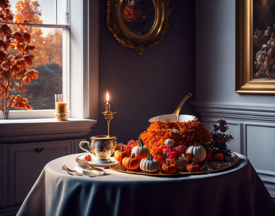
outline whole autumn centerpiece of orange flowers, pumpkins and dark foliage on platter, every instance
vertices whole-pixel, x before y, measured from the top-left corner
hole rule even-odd
[[[165,116],[167,122],[153,120],[157,118],[149,120],[151,124],[146,131],[140,134],[138,141],[131,140],[123,146],[125,156],[123,156],[122,163],[118,164],[116,168],[113,167],[115,170],[154,173],[154,175],[178,175],[185,172],[218,170],[232,166],[238,161],[238,156],[231,156],[232,152],[227,149],[225,144],[233,137],[217,133],[219,129],[221,132],[228,129],[224,120],[218,121],[219,126],[214,124],[215,129],[210,133],[197,121],[195,116],[181,115],[182,122],[169,122],[171,118],[168,119],[167,115]],[[126,155],[132,156],[126,157]],[[121,161],[121,159],[117,160]],[[141,160],[139,168],[137,164],[133,167],[127,166],[126,159]],[[227,164],[224,163],[225,161]],[[133,163],[131,162],[131,164]],[[156,166],[154,167],[154,165]]]

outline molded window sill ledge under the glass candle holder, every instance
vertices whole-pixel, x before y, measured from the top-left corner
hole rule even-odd
[[[0,142],[3,144],[54,141],[83,138],[92,131],[96,120],[54,118],[0,120]]]

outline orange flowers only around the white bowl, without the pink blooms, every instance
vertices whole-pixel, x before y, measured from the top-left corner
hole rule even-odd
[[[178,133],[173,133],[172,129],[179,130]],[[144,146],[150,149],[150,153],[153,157],[164,163],[166,158],[163,156],[163,148],[165,146],[166,139],[172,139],[175,141],[175,145],[193,145],[194,142],[205,144],[211,141],[211,133],[204,128],[204,126],[198,121],[189,122],[160,122],[152,121],[149,128],[141,133],[141,140]]]

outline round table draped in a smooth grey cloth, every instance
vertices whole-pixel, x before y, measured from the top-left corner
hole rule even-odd
[[[275,210],[258,174],[240,154],[238,163],[230,168],[183,176],[137,175],[101,168],[107,175],[88,177],[61,170],[63,164],[83,169],[75,161],[79,155],[49,162],[17,215],[252,216]]]

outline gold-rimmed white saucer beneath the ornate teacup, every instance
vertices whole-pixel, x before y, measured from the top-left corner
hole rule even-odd
[[[85,166],[92,166],[92,167],[108,167],[108,166],[113,166],[115,164],[118,164],[119,162],[114,159],[114,157],[110,157],[109,161],[106,160],[100,160],[96,156],[91,155],[91,161],[85,160],[85,156],[88,155],[88,153],[80,155],[76,158],[76,163],[85,165]]]

